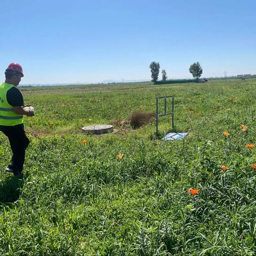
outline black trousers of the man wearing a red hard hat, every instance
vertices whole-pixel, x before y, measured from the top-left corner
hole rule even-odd
[[[25,151],[29,145],[29,139],[25,134],[23,124],[14,126],[0,125],[2,131],[9,139],[12,149],[12,165],[18,167],[18,172],[22,172],[23,164],[25,162]]]

